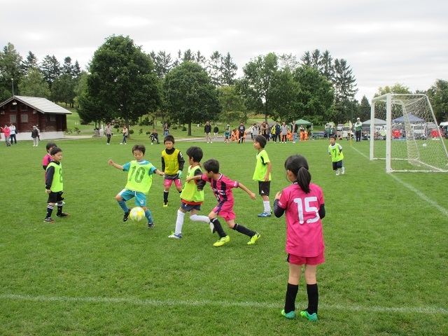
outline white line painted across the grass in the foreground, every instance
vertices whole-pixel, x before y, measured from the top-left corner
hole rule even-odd
[[[93,303],[124,303],[135,304],[139,306],[220,306],[220,307],[258,307],[258,308],[281,308],[281,303],[267,302],[225,302],[211,300],[141,300],[132,297],[67,297],[67,296],[45,296],[45,295],[17,295],[0,294],[1,300],[15,301],[36,301],[36,302],[93,302]],[[377,312],[385,311],[391,313],[404,314],[441,314],[448,315],[448,309],[437,307],[364,307],[364,306],[344,306],[342,304],[319,304],[319,307],[329,310],[349,310],[349,311],[367,311]]]

